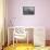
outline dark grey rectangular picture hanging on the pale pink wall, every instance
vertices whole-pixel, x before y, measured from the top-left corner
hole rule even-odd
[[[23,7],[23,15],[35,15],[35,7]]]

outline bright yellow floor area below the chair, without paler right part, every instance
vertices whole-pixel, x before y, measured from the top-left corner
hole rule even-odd
[[[26,43],[17,43],[17,45],[11,45],[7,48],[4,48],[4,50],[30,50],[34,49],[34,46],[32,45],[26,45]]]

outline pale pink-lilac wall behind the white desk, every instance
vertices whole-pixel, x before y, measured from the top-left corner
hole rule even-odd
[[[23,7],[35,7],[35,15],[23,15]],[[50,40],[50,0],[8,0],[9,26],[43,26]]]

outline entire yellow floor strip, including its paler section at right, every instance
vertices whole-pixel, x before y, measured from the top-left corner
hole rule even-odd
[[[3,50],[50,50],[50,47],[34,47],[32,45],[26,43],[18,43],[18,45],[11,45]]]

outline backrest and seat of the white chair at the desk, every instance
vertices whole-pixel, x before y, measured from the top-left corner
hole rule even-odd
[[[13,37],[16,39],[24,39],[26,37],[26,32],[23,27],[16,27],[13,34]]]

